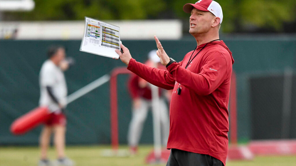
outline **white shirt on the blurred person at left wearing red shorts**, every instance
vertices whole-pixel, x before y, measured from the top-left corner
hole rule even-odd
[[[67,84],[63,71],[57,67],[50,59],[46,60],[40,70],[39,75],[40,99],[39,105],[46,106],[51,111],[59,110],[59,105],[49,96],[46,86],[52,88],[53,95],[58,102],[66,107],[67,105]]]

